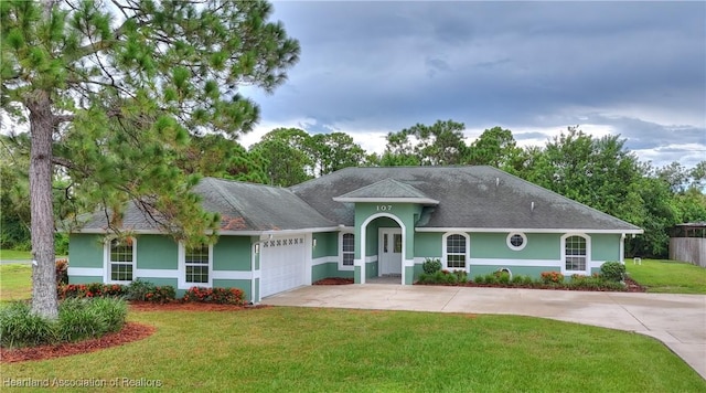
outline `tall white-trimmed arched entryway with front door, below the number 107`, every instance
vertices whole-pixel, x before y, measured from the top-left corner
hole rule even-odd
[[[405,234],[406,226],[403,221],[391,213],[373,214],[361,224],[360,284],[379,276],[398,276],[397,284],[405,283]],[[374,249],[376,252],[373,252]],[[377,264],[373,265],[373,262]]]

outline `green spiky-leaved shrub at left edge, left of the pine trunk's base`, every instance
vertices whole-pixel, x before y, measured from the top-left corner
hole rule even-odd
[[[6,348],[40,346],[56,341],[54,325],[32,312],[30,305],[14,301],[0,308],[0,344]]]

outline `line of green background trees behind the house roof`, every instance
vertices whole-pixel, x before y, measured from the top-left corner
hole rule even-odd
[[[345,132],[309,135],[277,128],[246,149],[221,134],[192,136],[174,162],[185,173],[289,187],[346,167],[486,164],[620,217],[645,230],[628,241],[628,253],[665,257],[668,230],[706,221],[706,161],[655,168],[641,162],[619,136],[593,138],[568,127],[542,147],[517,147],[509,129],[484,130],[467,144],[453,120],[417,124],[386,137],[381,155],[368,153]],[[2,247],[29,248],[26,135],[2,136],[0,203]],[[54,177],[60,219],[81,213],[65,201],[66,178]],[[57,235],[65,247],[65,236]]]

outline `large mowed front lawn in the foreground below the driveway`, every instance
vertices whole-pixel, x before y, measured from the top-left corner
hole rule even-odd
[[[654,339],[538,318],[277,307],[129,319],[158,330],[94,353],[3,364],[3,378],[157,380],[170,392],[706,391]]]

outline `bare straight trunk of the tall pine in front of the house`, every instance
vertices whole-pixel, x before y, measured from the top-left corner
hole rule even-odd
[[[54,115],[46,92],[26,102],[30,110],[30,211],[32,234],[32,311],[50,319],[58,316],[54,262],[52,204],[52,137]]]

